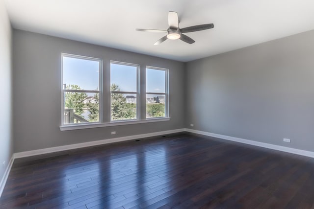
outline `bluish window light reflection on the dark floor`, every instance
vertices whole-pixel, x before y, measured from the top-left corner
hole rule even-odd
[[[164,193],[162,187],[170,182],[166,174],[160,175],[169,166],[164,146],[113,156],[103,161],[73,164],[64,169],[65,191],[70,189],[75,196],[69,199],[70,207],[81,206],[84,201],[87,208],[117,208],[130,197],[134,199],[131,203],[127,202],[131,207]]]

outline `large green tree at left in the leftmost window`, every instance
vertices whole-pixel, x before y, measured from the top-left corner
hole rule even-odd
[[[81,90],[78,85],[68,85],[66,89],[71,90]],[[65,93],[65,107],[73,108],[74,113],[78,116],[82,116],[84,99],[87,97],[86,93],[81,92],[67,92]]]

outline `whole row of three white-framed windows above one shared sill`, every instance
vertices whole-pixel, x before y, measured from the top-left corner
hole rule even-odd
[[[62,53],[60,130],[169,120],[168,70],[140,74],[137,64],[110,61],[103,69],[101,59]]]

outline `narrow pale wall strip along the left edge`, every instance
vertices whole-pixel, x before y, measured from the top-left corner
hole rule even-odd
[[[0,181],[12,156],[11,24],[0,0]],[[5,162],[4,168],[2,163]]]

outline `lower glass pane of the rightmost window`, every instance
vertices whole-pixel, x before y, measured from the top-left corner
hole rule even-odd
[[[146,118],[165,117],[165,95],[146,94]]]

